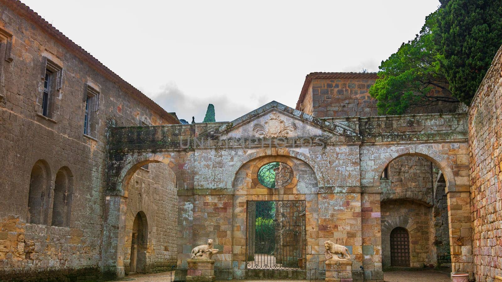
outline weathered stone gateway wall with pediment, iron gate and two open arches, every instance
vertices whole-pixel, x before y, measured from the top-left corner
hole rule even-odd
[[[124,273],[130,171],[163,162],[178,190],[178,267],[210,238],[232,277],[315,278],[332,240],[349,249],[354,278],[362,266],[381,280],[382,174],[411,155],[441,170],[452,271],[471,273],[466,127],[465,114],[319,119],[271,102],[231,122],[110,128],[103,267]]]

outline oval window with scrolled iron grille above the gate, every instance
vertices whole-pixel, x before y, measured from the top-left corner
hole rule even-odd
[[[258,181],[267,188],[282,188],[292,180],[293,169],[285,163],[268,163],[258,171]]]

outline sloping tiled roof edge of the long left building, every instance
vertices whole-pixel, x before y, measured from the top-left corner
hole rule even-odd
[[[12,9],[16,14],[25,18],[26,20],[37,25],[42,31],[53,37],[59,44],[64,46],[69,52],[73,53],[80,60],[91,66],[98,73],[109,79],[110,81],[119,85],[124,91],[130,93],[140,102],[146,104],[151,110],[157,112],[162,118],[169,120],[172,123],[180,123],[178,118],[168,113],[159,104],[150,99],[147,95],[143,94],[136,87],[131,85],[126,80],[122,79],[118,74],[103,65],[98,59],[94,58],[89,52],[85,51],[82,47],[71,41],[58,29],[53,27],[45,19],[39,16],[36,12],[30,9],[19,0],[0,0],[3,4]]]

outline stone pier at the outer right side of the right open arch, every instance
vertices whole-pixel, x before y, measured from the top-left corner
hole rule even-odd
[[[452,273],[468,273],[469,279],[473,279],[470,192],[447,192],[446,195],[448,197],[451,270]]]

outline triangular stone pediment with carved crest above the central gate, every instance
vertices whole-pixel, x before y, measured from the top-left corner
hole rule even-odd
[[[221,139],[357,135],[347,126],[315,118],[276,101],[230,121],[215,131]]]

